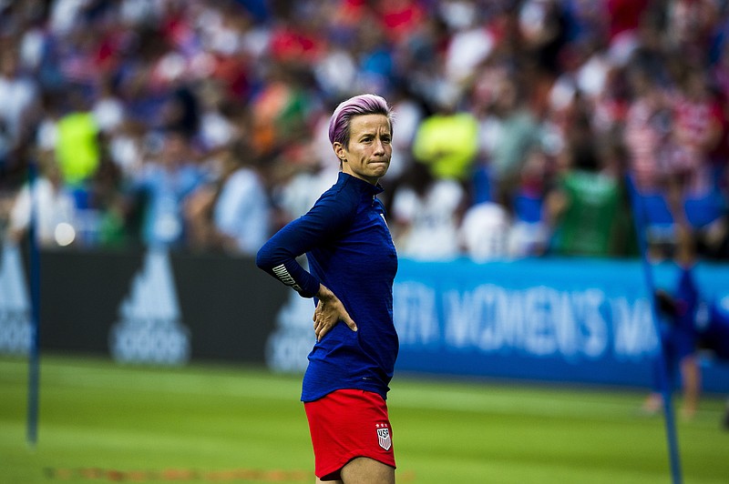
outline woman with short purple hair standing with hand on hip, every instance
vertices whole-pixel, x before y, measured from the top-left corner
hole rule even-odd
[[[302,297],[314,297],[316,342],[302,400],[317,482],[395,482],[385,399],[398,352],[397,255],[377,198],[392,134],[391,107],[381,96],[354,96],[337,106],[329,127],[342,170],[336,184],[256,258]],[[311,272],[296,260],[303,254]]]

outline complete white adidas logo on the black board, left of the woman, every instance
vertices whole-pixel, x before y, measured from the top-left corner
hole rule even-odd
[[[190,330],[180,323],[180,303],[169,255],[149,249],[109,330],[109,350],[119,363],[183,365],[190,360]]]

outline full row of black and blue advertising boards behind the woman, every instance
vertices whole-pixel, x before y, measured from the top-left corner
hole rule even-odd
[[[11,252],[0,257],[0,354],[27,354],[29,301],[20,290],[26,278],[19,253],[11,263]],[[150,256],[43,251],[41,348],[118,358],[111,336],[121,327],[128,329],[124,341],[139,346],[128,349],[140,362],[230,360],[285,372],[306,367],[311,299],[264,274],[251,258],[171,254],[159,264]],[[399,264],[398,371],[652,385],[658,339],[638,260]],[[673,287],[676,274],[670,264],[655,267],[656,284]],[[729,294],[729,265],[704,263],[696,277],[705,297]],[[161,294],[159,287],[169,290]],[[150,299],[152,290],[157,293]],[[149,304],[165,318],[141,324]],[[162,358],[157,349],[171,347],[150,345],[149,331],[160,338],[187,335],[189,352],[180,361]],[[729,363],[703,360],[703,388],[729,393]]]

